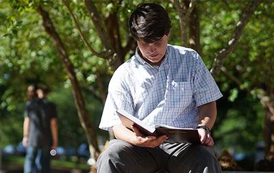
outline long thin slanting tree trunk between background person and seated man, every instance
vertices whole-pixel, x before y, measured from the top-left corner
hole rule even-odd
[[[53,42],[56,48],[58,49],[58,53],[61,57],[62,64],[64,65],[64,68],[66,68],[66,74],[69,76],[69,79],[71,80],[71,87],[72,87],[75,105],[77,108],[77,113],[78,113],[80,122],[82,124],[82,127],[86,133],[86,137],[88,139],[90,155],[92,158],[97,160],[100,152],[98,143],[97,143],[97,137],[92,127],[92,124],[90,122],[90,118],[88,116],[88,111],[86,109],[85,101],[81,92],[82,90],[80,88],[79,82],[77,81],[77,77],[75,75],[74,66],[73,64],[71,64],[71,61],[69,60],[69,57],[66,54],[64,45],[60,37],[55,31],[55,28],[53,27],[53,24],[51,23],[49,15],[44,10],[42,10],[41,7],[39,7],[37,11],[42,16],[43,26],[45,27],[45,30],[47,31],[49,36],[51,36],[51,38],[53,39]]]

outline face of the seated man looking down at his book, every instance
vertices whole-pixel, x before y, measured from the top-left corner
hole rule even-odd
[[[141,57],[152,66],[160,66],[164,55],[166,54],[167,40],[170,36],[164,35],[159,41],[153,43],[145,43],[137,41]]]

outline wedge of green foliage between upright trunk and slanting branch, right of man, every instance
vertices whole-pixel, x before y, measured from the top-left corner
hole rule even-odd
[[[197,4],[200,12],[202,57],[208,68],[212,66],[214,53],[223,49],[236,27],[240,4],[235,2],[226,4],[223,1],[203,1]],[[241,7],[244,4],[241,3]]]

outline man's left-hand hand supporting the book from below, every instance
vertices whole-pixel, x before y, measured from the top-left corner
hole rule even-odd
[[[166,139],[166,135],[161,135],[159,137],[155,136],[145,136],[142,132],[138,130],[137,127],[132,126],[132,130],[134,131],[136,135],[136,139],[134,140],[134,145],[136,146],[142,146],[142,147],[148,147],[148,148],[155,148],[156,146],[160,146]]]

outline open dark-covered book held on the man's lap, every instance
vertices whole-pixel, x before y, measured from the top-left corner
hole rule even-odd
[[[155,126],[150,127],[123,109],[119,109],[116,112],[122,124],[128,129],[132,129],[132,125],[134,125],[145,135],[167,135],[169,139],[166,139],[166,142],[200,144],[200,137],[196,129],[182,129],[164,124],[155,124]]]

